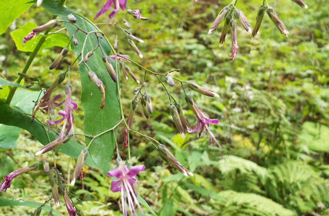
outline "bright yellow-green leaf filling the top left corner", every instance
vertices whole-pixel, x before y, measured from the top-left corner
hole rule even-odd
[[[0,34],[4,33],[8,26],[25,12],[32,4],[26,4],[29,0],[2,1],[0,5]]]

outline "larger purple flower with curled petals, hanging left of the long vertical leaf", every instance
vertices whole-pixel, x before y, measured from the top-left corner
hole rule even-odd
[[[65,86],[65,93],[66,93],[66,97],[65,97],[65,107],[64,107],[64,111],[59,111],[58,114],[62,115],[63,117],[59,120],[56,121],[49,121],[47,120],[48,123],[50,124],[59,124],[61,122],[63,122],[63,128],[62,131],[58,137],[58,140],[62,140],[63,136],[64,136],[64,131],[66,128],[66,123],[67,123],[67,129],[65,132],[65,135],[68,135],[68,132],[71,130],[72,128],[72,132],[73,132],[73,138],[74,138],[74,128],[73,128],[73,111],[72,110],[76,110],[78,108],[78,105],[76,103],[74,103],[72,101],[72,86],[70,84],[67,84]]]

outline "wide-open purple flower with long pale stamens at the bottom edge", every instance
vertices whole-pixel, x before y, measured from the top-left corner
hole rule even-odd
[[[137,179],[135,178],[135,176],[144,169],[145,169],[145,165],[139,165],[139,166],[133,166],[130,168],[130,170],[128,170],[128,167],[126,165],[123,165],[123,162],[120,161],[119,168],[115,168],[114,170],[107,172],[108,177],[115,177],[118,179],[112,181],[111,191],[112,192],[121,191],[121,204],[122,204],[123,216],[127,216],[126,197],[128,198],[128,205],[131,215],[134,215],[135,213],[135,215],[137,216],[134,207],[134,202],[135,204],[137,204],[140,211],[143,213],[143,210],[141,209],[139,202],[137,200],[137,191],[135,188]]]

